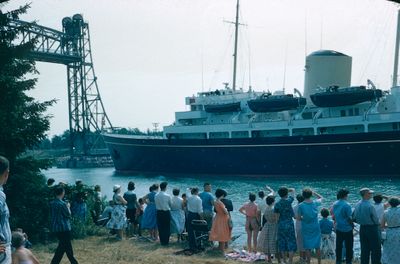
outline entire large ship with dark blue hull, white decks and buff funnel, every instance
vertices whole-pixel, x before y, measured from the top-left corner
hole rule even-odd
[[[399,37],[392,87],[352,86],[352,58],[334,50],[306,57],[304,92],[232,87],[185,98],[162,136],[104,133],[116,171],[221,176],[400,175]],[[397,34],[399,35],[399,29]]]

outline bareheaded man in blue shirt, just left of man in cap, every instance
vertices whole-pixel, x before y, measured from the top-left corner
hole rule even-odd
[[[349,191],[340,189],[337,201],[332,206],[333,218],[336,223],[336,263],[342,263],[343,241],[346,248],[346,264],[353,260],[353,221],[351,206],[347,202]]]

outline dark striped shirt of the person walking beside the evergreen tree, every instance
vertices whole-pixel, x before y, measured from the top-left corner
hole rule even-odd
[[[53,232],[65,232],[71,231],[71,212],[67,207],[67,204],[60,200],[54,199],[50,203],[51,208],[51,226],[50,229]]]

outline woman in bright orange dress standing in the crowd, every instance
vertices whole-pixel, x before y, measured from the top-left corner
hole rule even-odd
[[[217,198],[214,202],[216,215],[214,217],[211,232],[210,241],[218,241],[218,248],[221,251],[225,250],[225,244],[231,240],[231,229],[229,227],[229,214],[226,210],[224,203],[221,201],[225,197],[225,191],[217,189],[215,191],[215,197]]]

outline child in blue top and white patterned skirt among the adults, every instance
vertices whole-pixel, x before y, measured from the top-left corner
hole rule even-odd
[[[328,219],[329,210],[321,209],[322,219],[319,220],[321,228],[321,257],[322,259],[336,259],[335,236],[333,234],[333,222]]]

